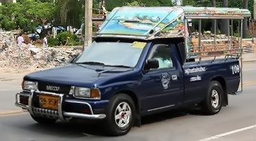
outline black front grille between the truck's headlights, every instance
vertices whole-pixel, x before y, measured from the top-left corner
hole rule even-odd
[[[48,86],[53,86],[53,87],[60,87],[58,91],[51,91],[47,89]],[[39,91],[47,91],[51,93],[58,93],[58,94],[68,94],[70,91],[70,85],[63,85],[63,84],[54,84],[54,83],[49,83],[49,82],[38,82],[38,90]]]

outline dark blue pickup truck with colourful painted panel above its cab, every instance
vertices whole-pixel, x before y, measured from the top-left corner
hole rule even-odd
[[[136,16],[131,21],[127,14]],[[100,121],[114,136],[140,126],[145,115],[188,105],[217,114],[228,94],[236,94],[241,66],[238,57],[197,61],[212,55],[188,50],[186,27],[168,27],[186,25],[185,14],[182,7],[115,8],[92,45],[70,63],[26,75],[15,105],[41,124]],[[172,32],[161,33],[161,26]]]

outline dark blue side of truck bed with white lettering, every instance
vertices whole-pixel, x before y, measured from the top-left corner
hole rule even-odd
[[[185,63],[183,65],[185,101],[193,100],[195,97],[198,100],[204,98],[211,80],[219,81],[227,93],[236,92],[239,87],[240,75],[239,72],[232,72],[234,66],[239,68],[239,61],[234,58]]]

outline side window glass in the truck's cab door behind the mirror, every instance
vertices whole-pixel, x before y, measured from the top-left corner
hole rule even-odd
[[[167,45],[154,45],[152,50],[150,50],[148,59],[157,59],[159,62],[159,68],[150,70],[159,70],[173,67],[172,54],[170,48]]]

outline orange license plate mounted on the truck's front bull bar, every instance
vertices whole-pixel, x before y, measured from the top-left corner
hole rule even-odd
[[[39,103],[41,108],[58,110],[59,98],[56,96],[39,95]]]

